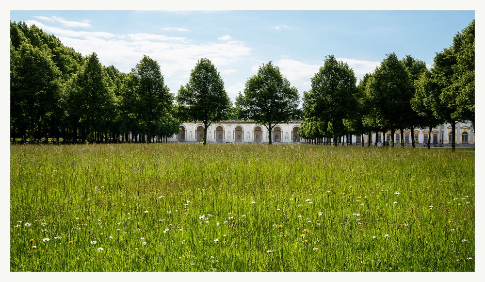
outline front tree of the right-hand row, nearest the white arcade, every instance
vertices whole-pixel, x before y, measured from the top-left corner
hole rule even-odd
[[[333,55],[325,58],[323,66],[311,79],[310,92],[315,97],[316,117],[326,125],[325,131],[330,133],[334,146],[337,146],[337,137],[347,133],[344,120],[349,119],[357,108],[356,75]]]

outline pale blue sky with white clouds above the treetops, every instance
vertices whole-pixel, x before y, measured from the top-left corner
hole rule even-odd
[[[198,59],[209,58],[233,101],[270,60],[300,96],[327,55],[347,62],[357,82],[391,52],[431,67],[435,53],[474,18],[474,11],[10,12],[12,21],[35,24],[82,55],[96,52],[103,65],[123,72],[148,55],[173,93]]]

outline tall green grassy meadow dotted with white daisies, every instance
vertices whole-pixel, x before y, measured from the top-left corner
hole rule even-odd
[[[474,151],[10,147],[11,271],[475,271]]]

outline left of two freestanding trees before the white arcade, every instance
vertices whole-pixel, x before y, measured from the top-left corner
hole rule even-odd
[[[204,124],[202,144],[207,143],[207,128],[211,122],[228,118],[231,100],[224,89],[224,82],[209,59],[197,61],[189,83],[180,86],[177,94],[178,118],[184,122],[201,121]]]

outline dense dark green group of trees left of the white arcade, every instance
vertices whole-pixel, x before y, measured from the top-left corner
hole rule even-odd
[[[14,142],[151,142],[179,131],[159,64],[125,74],[82,57],[35,25],[10,23],[10,136]]]

